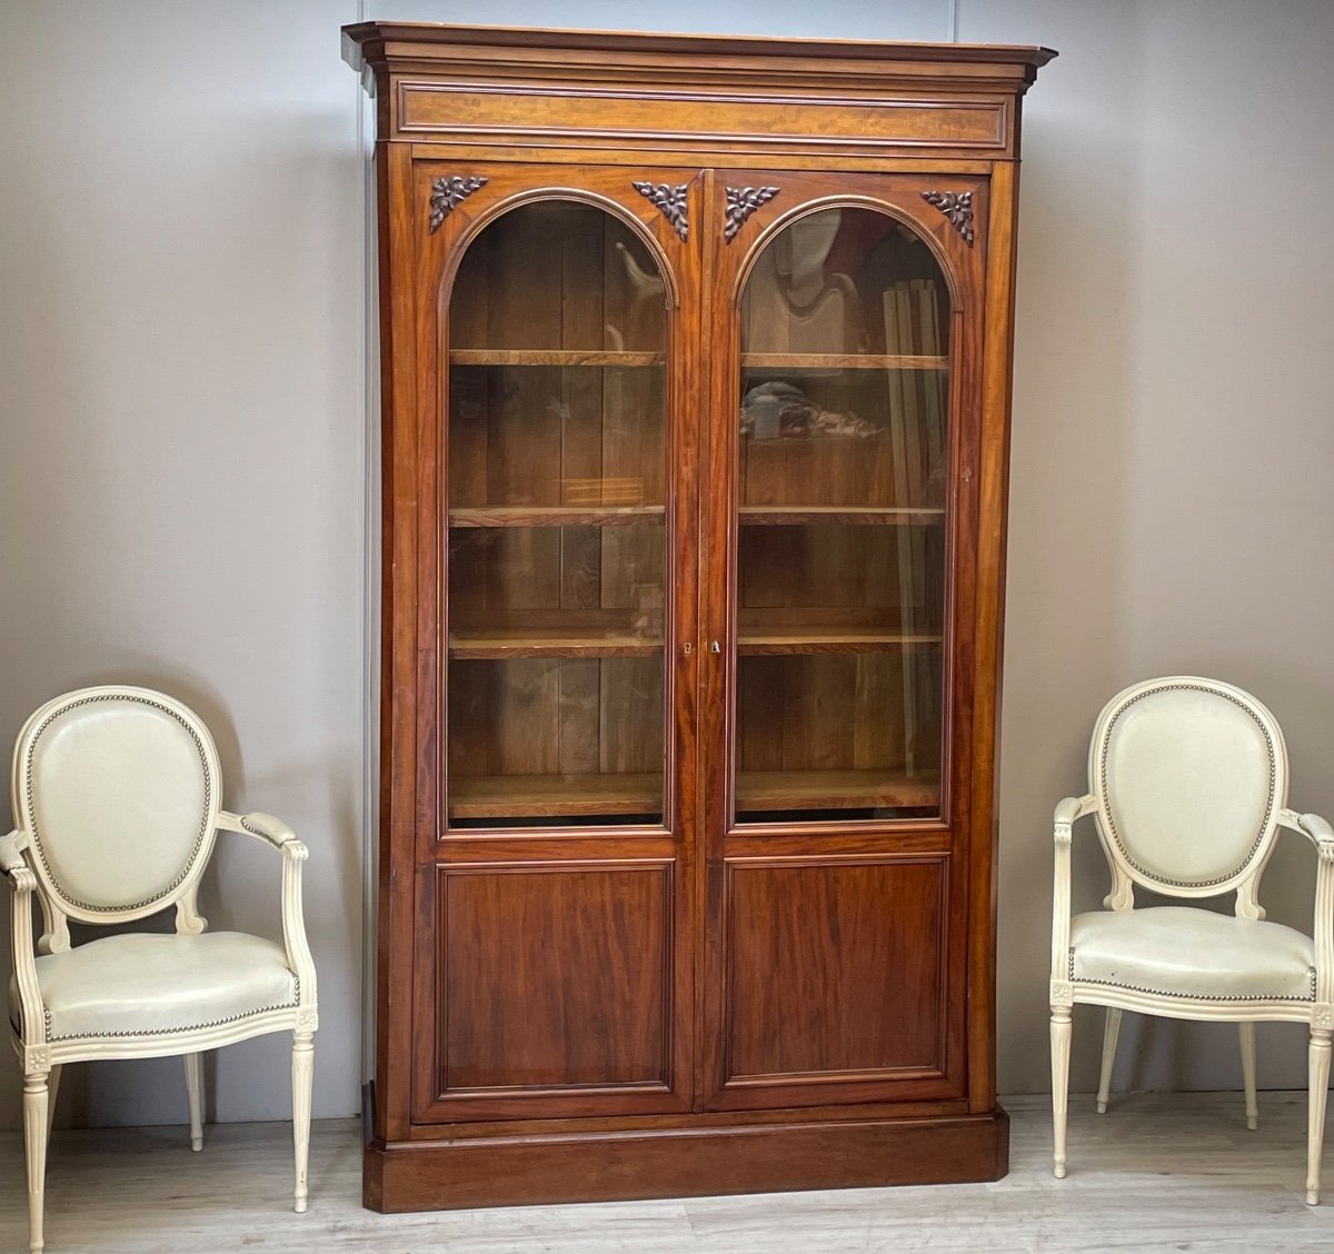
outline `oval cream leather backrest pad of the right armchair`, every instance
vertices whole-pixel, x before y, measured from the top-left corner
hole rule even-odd
[[[1225,686],[1187,679],[1105,712],[1090,782],[1137,878],[1221,883],[1261,852],[1283,786],[1279,732],[1265,714]]]

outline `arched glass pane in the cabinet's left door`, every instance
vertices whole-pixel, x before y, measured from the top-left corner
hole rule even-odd
[[[600,208],[522,205],[447,338],[450,824],[659,823],[662,275]]]

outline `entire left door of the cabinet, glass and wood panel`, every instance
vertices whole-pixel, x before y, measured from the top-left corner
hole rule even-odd
[[[422,422],[439,440],[443,735],[423,746],[439,787],[419,851],[415,1035],[431,1049],[414,1118],[680,1111],[694,1090],[690,180],[438,161],[415,177],[432,207],[416,350],[438,380]]]

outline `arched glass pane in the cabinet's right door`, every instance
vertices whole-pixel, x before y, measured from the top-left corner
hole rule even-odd
[[[938,814],[944,276],[896,219],[820,209],[740,312],[736,819]]]

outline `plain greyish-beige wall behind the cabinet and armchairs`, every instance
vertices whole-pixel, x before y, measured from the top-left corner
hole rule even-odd
[[[624,27],[610,0],[0,3],[0,735],[129,679],[217,735],[227,803],[311,844],[316,1113],[358,1106],[368,742],[363,13]],[[1050,812],[1121,686],[1198,671],[1278,715],[1334,815],[1334,7],[1322,0],[687,0],[646,29],[1045,43],[1027,101],[1000,771],[1002,1089],[1046,1086]],[[374,511],[372,511],[374,512]],[[3,802],[3,798],[0,798]],[[1091,836],[1091,832],[1086,834]],[[1090,847],[1078,895],[1102,872]],[[1309,922],[1283,847],[1271,916]],[[275,926],[223,846],[213,926]],[[7,904],[0,911],[7,910]],[[1077,1017],[1075,1086],[1093,1085]],[[1121,1082],[1233,1087],[1229,1029],[1129,1023]],[[1261,1079],[1305,1082],[1301,1031]],[[287,1110],[281,1042],[219,1118]],[[17,1117],[0,1066],[0,1123]],[[61,1121],[179,1122],[175,1062],[75,1078]]]

